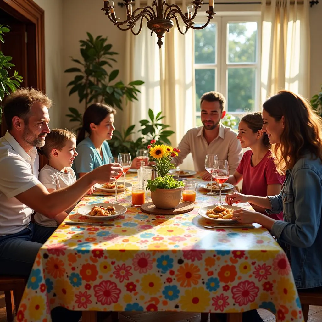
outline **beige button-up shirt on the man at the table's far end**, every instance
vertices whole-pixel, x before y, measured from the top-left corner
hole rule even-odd
[[[219,160],[228,160],[229,171],[232,175],[242,159],[242,147],[237,134],[229,127],[219,124],[218,136],[208,145],[204,138],[204,127],[190,129],[179,143],[181,150],[172,162],[180,165],[191,152],[195,171],[205,171],[204,161],[207,154],[216,154]]]

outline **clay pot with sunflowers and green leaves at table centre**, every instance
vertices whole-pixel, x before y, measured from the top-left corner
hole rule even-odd
[[[156,170],[158,177],[154,180],[147,180],[147,189],[151,191],[153,204],[160,209],[173,209],[180,200],[183,182],[177,181],[173,175],[169,175],[169,170],[175,168],[171,163],[172,159],[178,156],[179,149],[168,145],[156,145],[156,140],[151,140],[147,146],[150,153],[150,161],[153,161],[152,168]]]

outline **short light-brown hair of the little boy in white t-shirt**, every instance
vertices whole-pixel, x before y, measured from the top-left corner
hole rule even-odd
[[[53,149],[61,151],[65,146],[66,141],[72,138],[76,139],[76,135],[73,132],[62,128],[53,128],[50,133],[46,135],[45,145],[41,148],[41,152],[49,159]]]

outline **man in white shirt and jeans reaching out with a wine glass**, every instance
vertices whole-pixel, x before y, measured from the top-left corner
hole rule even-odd
[[[8,132],[0,138],[0,275],[29,276],[37,252],[53,232],[31,223],[33,211],[65,219],[63,211],[75,204],[96,182],[114,181],[118,163],[101,166],[75,184],[48,193],[38,181],[36,147],[45,144],[48,108],[52,102],[35,89],[20,89],[4,106]]]

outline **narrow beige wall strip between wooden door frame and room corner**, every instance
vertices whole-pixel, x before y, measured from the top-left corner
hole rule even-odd
[[[61,127],[62,96],[62,0],[34,0],[45,11],[46,93],[53,101],[50,127]]]

